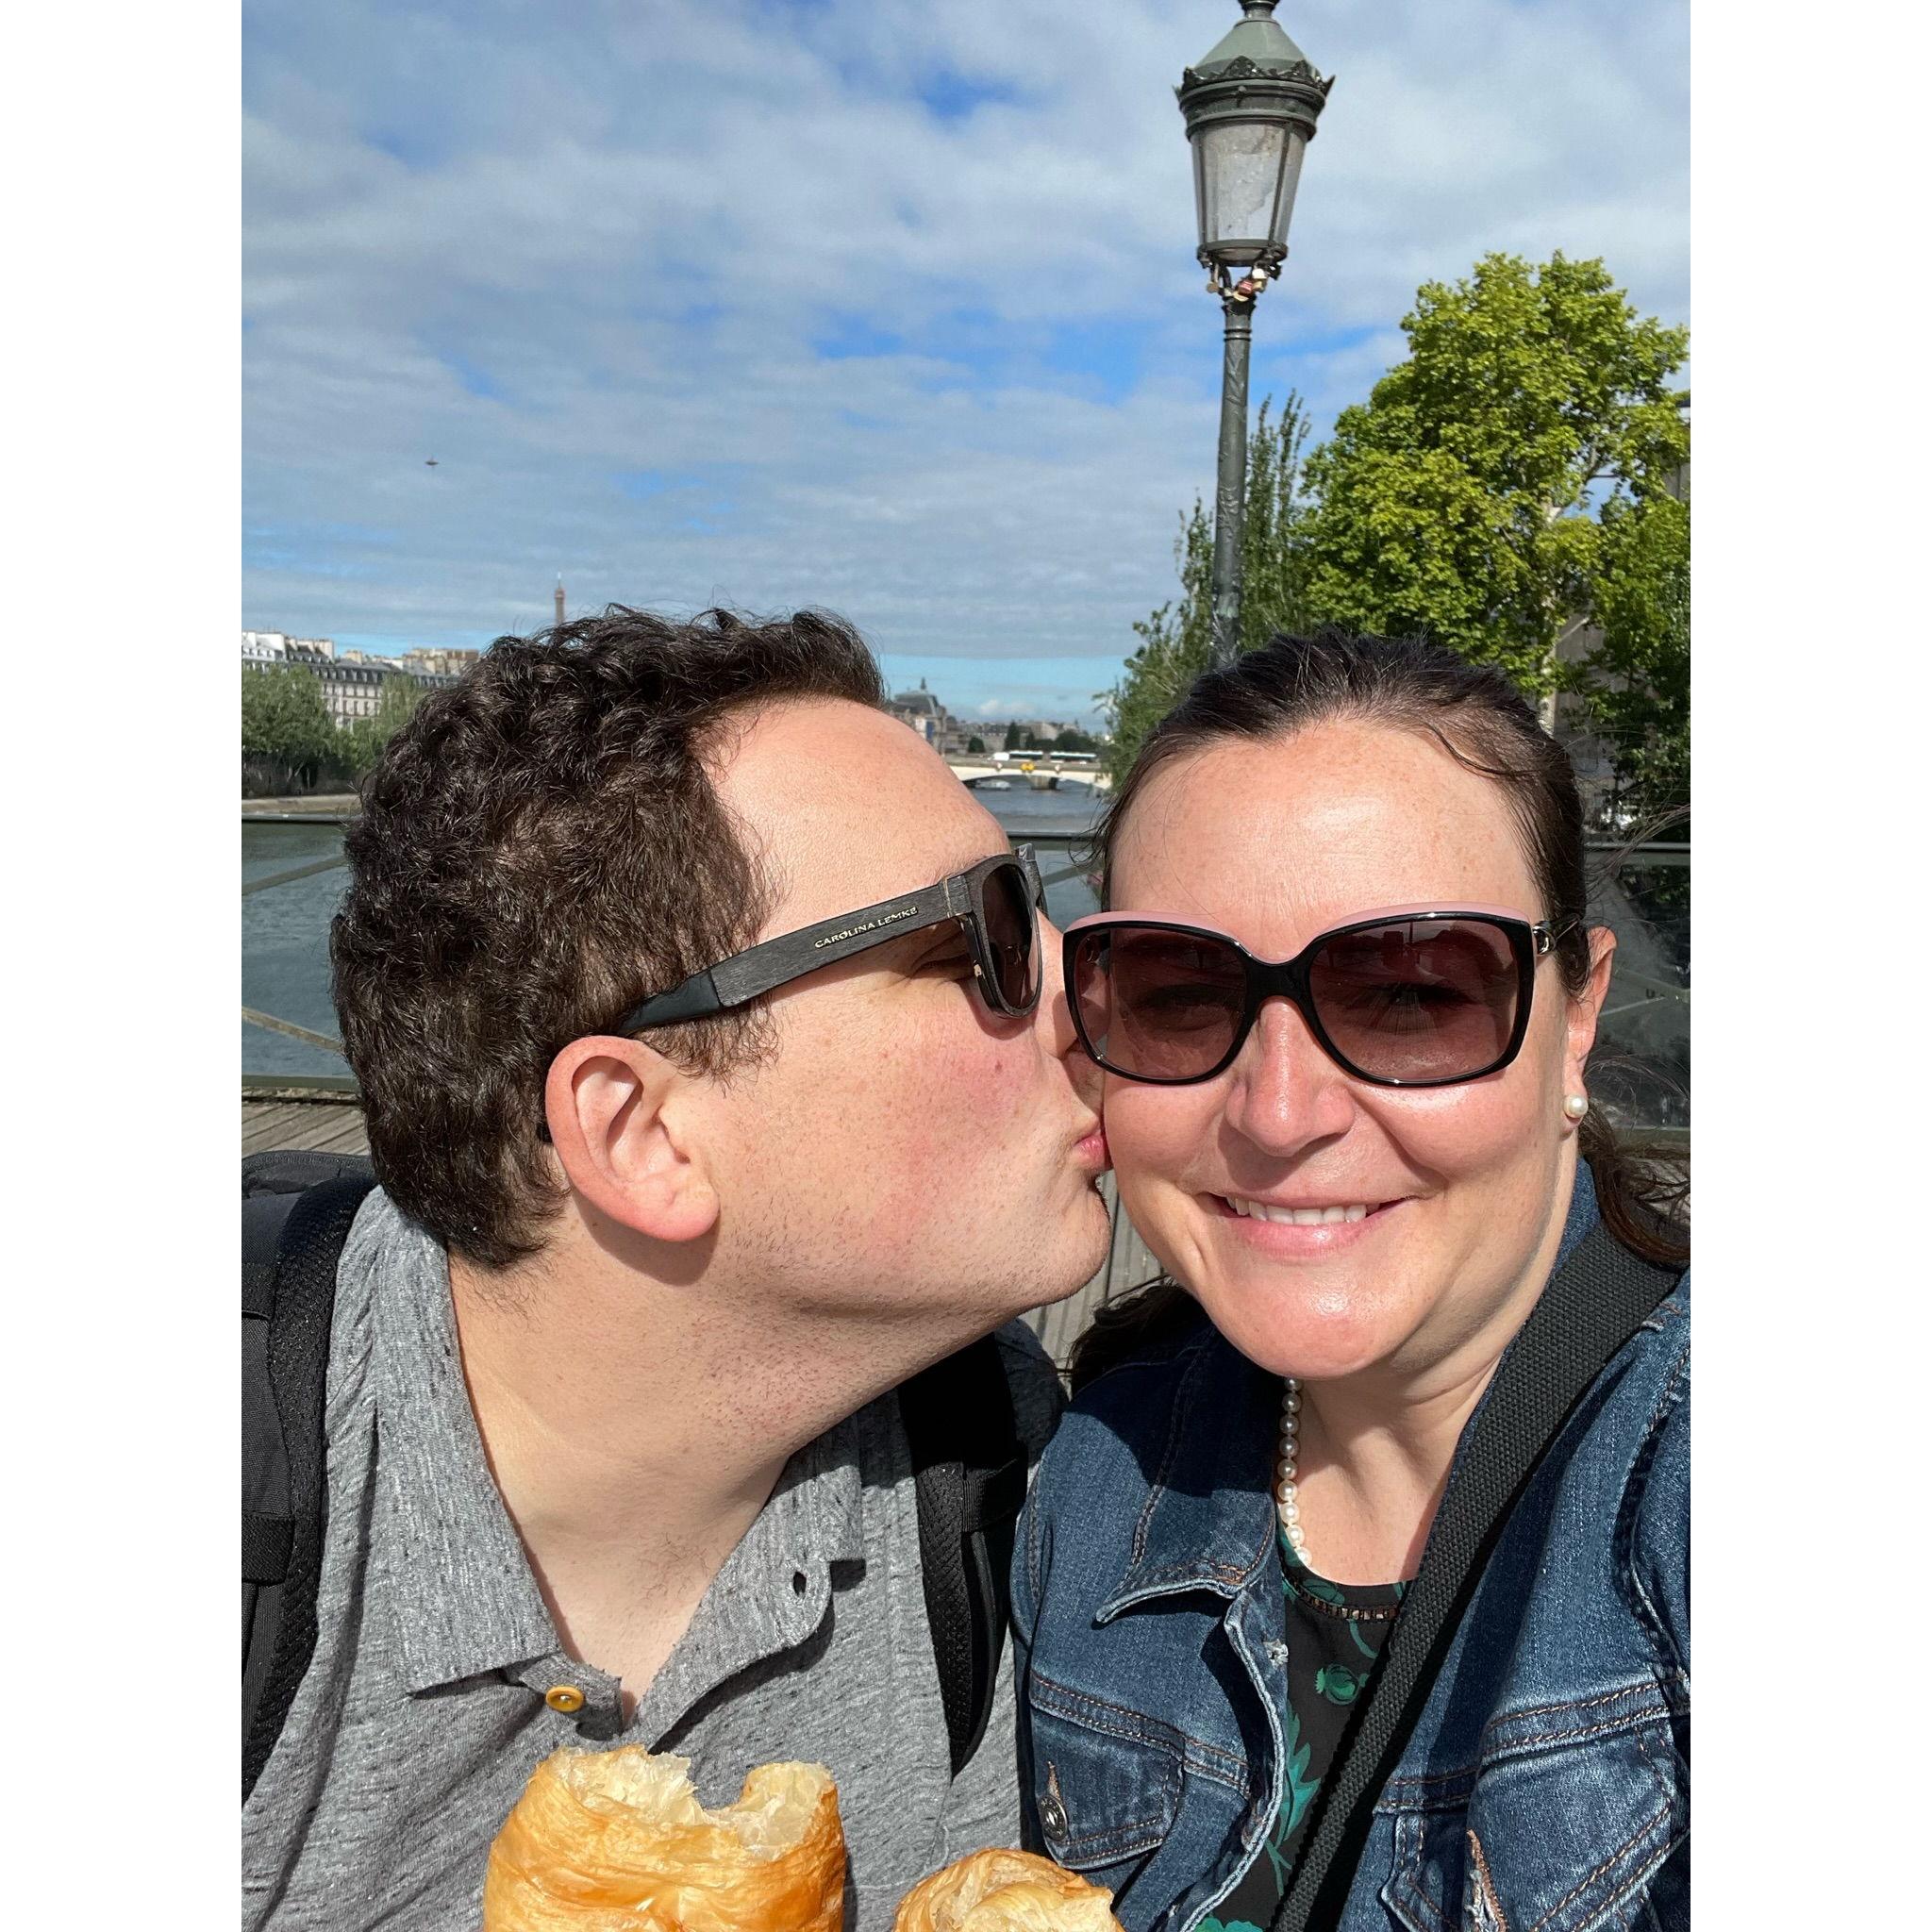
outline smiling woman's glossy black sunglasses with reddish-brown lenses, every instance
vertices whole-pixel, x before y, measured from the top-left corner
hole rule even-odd
[[[1211,927],[1101,912],[1066,929],[1066,1003],[1080,1045],[1122,1080],[1213,1080],[1262,1001],[1287,999],[1356,1080],[1451,1086],[1517,1057],[1555,937],[1503,912],[1405,908],[1269,962]]]

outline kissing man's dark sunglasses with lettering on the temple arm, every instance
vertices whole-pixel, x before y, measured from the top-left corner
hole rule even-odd
[[[694,972],[668,993],[653,993],[632,1007],[612,1034],[641,1034],[651,1026],[703,1020],[773,993],[792,980],[852,958],[867,947],[891,945],[906,933],[958,920],[972,947],[974,985],[987,1007],[1018,1018],[1039,1005],[1039,920],[1043,904],[1039,866],[1034,848],[983,858],[966,871],[954,871],[918,893],[881,898],[858,912],[804,925],[796,933],[734,952],[717,966]]]

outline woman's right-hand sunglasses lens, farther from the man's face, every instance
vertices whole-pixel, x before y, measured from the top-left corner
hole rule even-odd
[[[1335,1051],[1372,1080],[1466,1080],[1509,1047],[1522,997],[1488,920],[1391,920],[1337,933],[1308,970]]]

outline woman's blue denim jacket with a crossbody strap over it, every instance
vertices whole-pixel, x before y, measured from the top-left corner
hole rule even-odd
[[[1559,1262],[1594,1221],[1578,1167]],[[1281,1801],[1279,1389],[1202,1318],[1080,1395],[1020,1519],[1032,1841],[1126,1932],[1192,1932]],[[1687,1275],[1513,1511],[1339,1932],[1689,1924],[1689,1389]]]

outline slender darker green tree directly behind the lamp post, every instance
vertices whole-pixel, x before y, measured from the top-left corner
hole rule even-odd
[[[1308,417],[1289,390],[1281,415],[1269,421],[1273,398],[1262,402],[1248,439],[1248,493],[1240,533],[1240,649],[1252,651],[1277,632],[1306,622],[1308,508],[1302,500],[1302,444]],[[1105,769],[1115,784],[1126,777],[1142,740],[1175,707],[1180,694],[1208,668],[1213,639],[1213,524],[1200,497],[1180,518],[1175,539],[1180,597],[1134,624],[1140,649],[1128,657],[1121,682],[1095,692],[1107,721]]]

